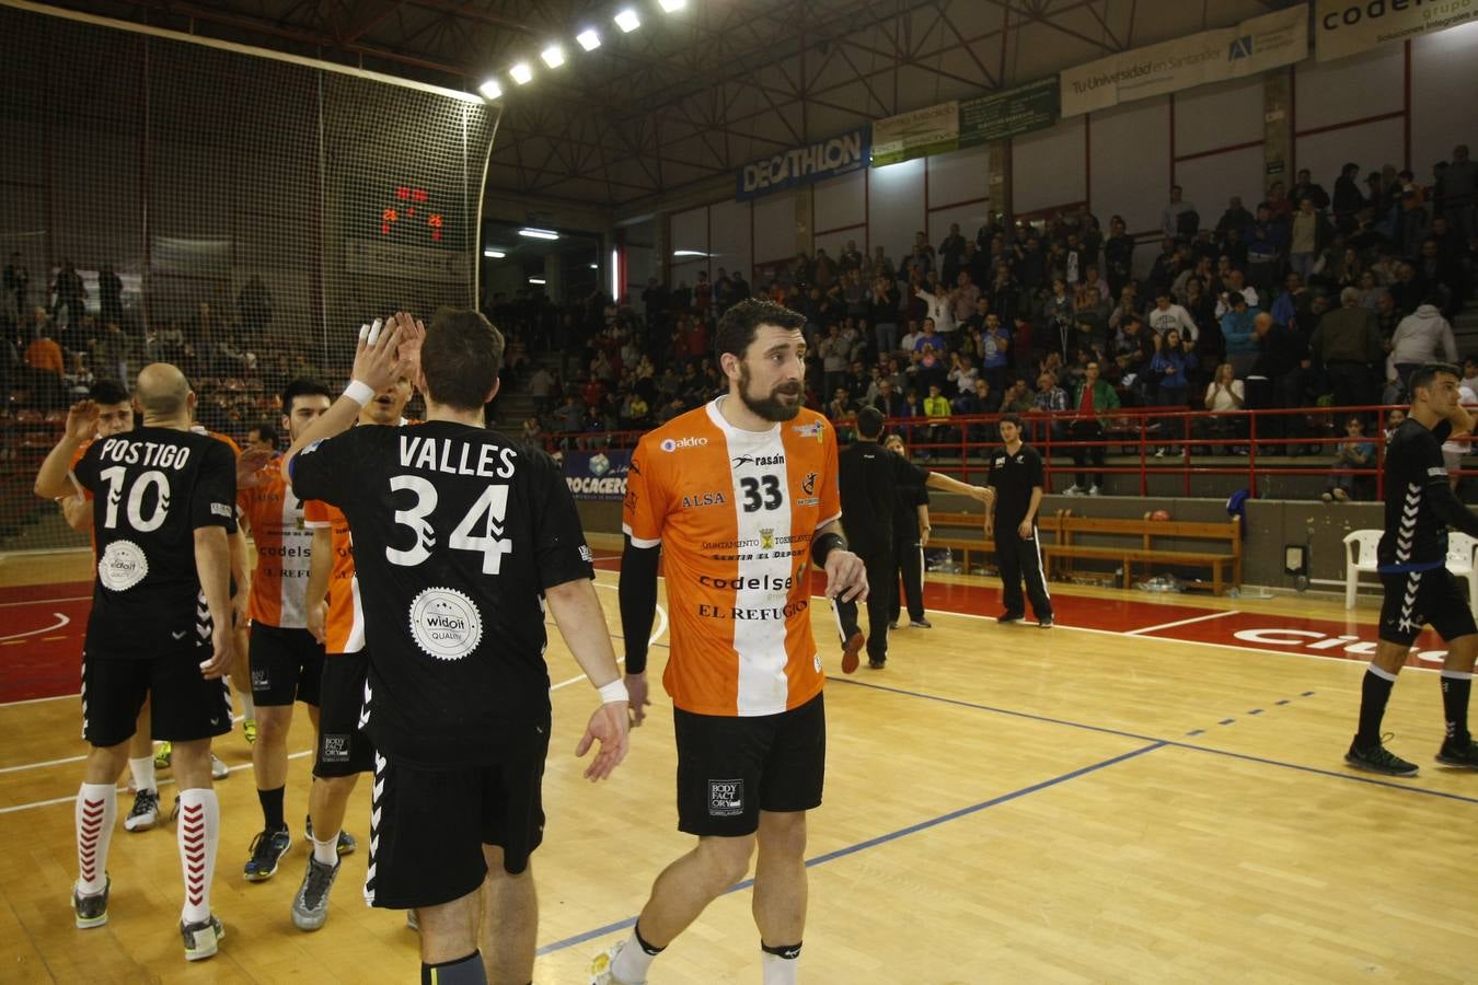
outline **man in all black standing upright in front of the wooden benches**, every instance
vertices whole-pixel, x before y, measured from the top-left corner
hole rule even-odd
[[[986,487],[995,493],[986,499],[986,536],[996,540],[1001,601],[1005,605],[996,622],[1014,623],[1026,617],[1026,600],[1021,598],[1024,577],[1038,625],[1051,629],[1052,597],[1042,577],[1042,549],[1036,539],[1036,514],[1042,507],[1042,456],[1021,442],[1021,418],[1015,413],[1001,418],[1001,449],[990,458]]]

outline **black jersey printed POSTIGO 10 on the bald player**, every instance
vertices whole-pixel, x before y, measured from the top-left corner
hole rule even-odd
[[[143,660],[208,647],[195,530],[236,529],[231,449],[204,434],[139,427],[93,442],[72,474],[93,493],[89,650]]]

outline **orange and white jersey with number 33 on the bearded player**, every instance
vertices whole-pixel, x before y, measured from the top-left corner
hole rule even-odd
[[[803,409],[766,431],[718,397],[641,437],[621,526],[662,545],[671,656],[662,682],[698,715],[774,715],[820,690],[811,538],[841,515],[837,433]]]

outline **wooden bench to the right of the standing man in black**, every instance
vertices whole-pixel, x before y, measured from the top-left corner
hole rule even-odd
[[[1054,561],[1063,574],[1072,572],[1072,558],[1119,561],[1123,567],[1123,586],[1134,583],[1134,566],[1142,564],[1148,574],[1151,564],[1187,567],[1209,567],[1212,591],[1221,595],[1228,585],[1242,585],[1242,521],[1233,517],[1230,523],[1188,523],[1176,520],[1111,520],[1107,517],[1076,517],[1072,509],[1063,509],[1057,517],[1057,542],[1042,543],[1048,573]],[[1076,538],[1116,538],[1123,543],[1082,543]],[[1205,551],[1184,551],[1156,546],[1165,540],[1209,540],[1216,546]]]

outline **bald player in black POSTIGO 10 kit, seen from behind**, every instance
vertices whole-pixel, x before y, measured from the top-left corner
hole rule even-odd
[[[174,366],[139,374],[143,425],[75,450],[98,431],[98,405],[67,413],[61,442],[35,477],[40,496],[68,495],[72,481],[93,495],[98,577],[83,644],[83,737],[92,746],[77,794],[72,911],[80,929],[108,923],[108,846],[118,814],[118,772],[145,699],[154,738],[174,744],[180,789],[177,830],[185,902],[185,958],[216,954],[225,935],[210,913],[220,840],[211,789],[210,740],[231,731],[222,679],[235,645],[231,632],[231,548],[236,473],[231,450],[191,431],[195,394]]]

